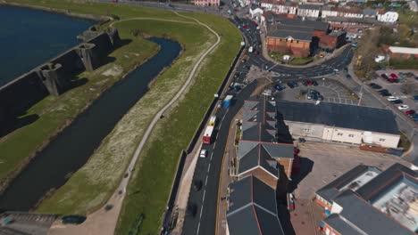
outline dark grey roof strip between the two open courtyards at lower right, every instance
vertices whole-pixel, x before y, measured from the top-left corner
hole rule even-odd
[[[396,183],[398,180],[403,180],[405,174],[411,175],[414,178],[418,177],[417,172],[404,165],[396,163],[373,178],[372,181],[364,184],[363,187],[356,190],[356,193],[365,200],[373,201],[378,198],[380,194],[384,192],[392,183]]]

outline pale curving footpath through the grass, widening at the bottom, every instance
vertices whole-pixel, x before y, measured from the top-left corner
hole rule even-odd
[[[85,223],[82,223],[78,226],[74,225],[62,225],[59,223],[56,223],[54,226],[51,227],[51,230],[48,234],[113,234],[114,230],[116,228],[119,215],[121,213],[121,207],[123,199],[125,198],[125,192],[126,187],[128,186],[128,183],[130,181],[130,172],[134,168],[135,164],[137,163],[139,154],[141,153],[142,149],[144,148],[144,145],[146,141],[148,140],[149,135],[151,134],[152,130],[154,129],[155,125],[157,124],[160,117],[163,115],[163,113],[169,109],[172,104],[179,100],[180,95],[183,94],[186,89],[188,88],[188,85],[190,84],[193,77],[196,75],[196,71],[199,68],[202,61],[205,59],[205,57],[213,52],[213,49],[221,43],[221,36],[219,36],[212,28],[207,26],[206,24],[200,22],[199,20],[196,20],[195,18],[183,16],[180,15],[178,12],[174,12],[175,14],[179,15],[180,17],[183,17],[185,19],[194,20],[195,22],[190,21],[181,21],[181,20],[163,20],[163,19],[157,19],[157,18],[130,18],[126,20],[120,20],[113,22],[111,26],[114,24],[121,22],[121,21],[127,21],[127,20],[161,20],[161,21],[171,21],[171,22],[180,22],[180,23],[189,23],[189,24],[198,24],[205,28],[207,28],[209,31],[211,31],[217,38],[216,42],[205,51],[202,55],[200,55],[199,59],[196,61],[193,69],[188,75],[188,79],[186,82],[181,86],[180,90],[174,95],[174,97],[171,99],[170,102],[168,102],[163,109],[160,109],[160,111],[155,115],[149,126],[146,128],[146,132],[144,136],[142,137],[141,142],[139,142],[137,150],[135,150],[135,153],[133,157],[130,160],[130,165],[128,166],[128,169],[126,170],[126,173],[129,174],[129,177],[122,178],[121,182],[119,183],[119,186],[117,187],[117,190],[113,192],[113,195],[111,199],[108,200],[107,205],[113,205],[113,208],[109,211],[106,211],[104,207],[97,210],[95,213],[88,215],[88,219]]]

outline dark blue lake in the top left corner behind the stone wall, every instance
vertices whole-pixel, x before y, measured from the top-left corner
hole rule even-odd
[[[94,22],[21,7],[0,7],[0,86],[77,45]]]

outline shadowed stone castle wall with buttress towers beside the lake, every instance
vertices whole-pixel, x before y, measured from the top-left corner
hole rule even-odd
[[[32,105],[49,94],[59,96],[74,86],[79,73],[103,65],[121,42],[116,28],[100,30],[97,26],[77,38],[79,45],[0,87],[0,137],[2,127],[13,126],[9,122],[24,115]]]

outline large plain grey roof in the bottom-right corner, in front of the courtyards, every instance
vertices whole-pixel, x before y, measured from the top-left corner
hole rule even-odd
[[[413,231],[409,231],[404,226],[390,219],[387,215],[381,213],[371,204],[361,199],[352,190],[345,190],[339,197],[334,199],[334,202],[342,207],[342,211],[339,216],[343,220],[336,220],[333,223],[334,226],[346,227],[355,226],[358,231],[362,231],[364,234],[397,234],[397,235],[410,235],[414,234]],[[347,224],[343,224],[347,223]],[[351,225],[353,224],[353,225]],[[346,234],[346,233],[341,233]],[[350,234],[350,233],[347,233]]]

